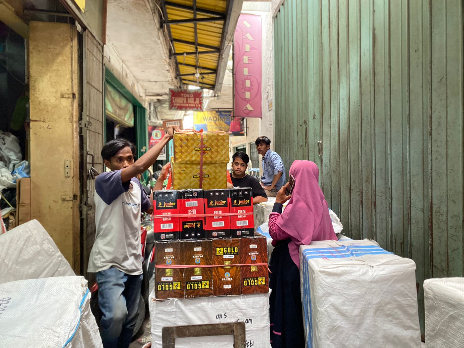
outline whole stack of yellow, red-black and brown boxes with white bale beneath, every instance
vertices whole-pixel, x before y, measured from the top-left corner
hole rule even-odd
[[[237,321],[249,347],[268,347],[267,247],[255,235],[251,188],[226,188],[228,135],[204,133],[200,189],[200,142],[199,133],[174,134],[174,190],[154,195],[152,347],[161,347],[165,326]],[[176,339],[176,347],[225,347],[230,339]]]

